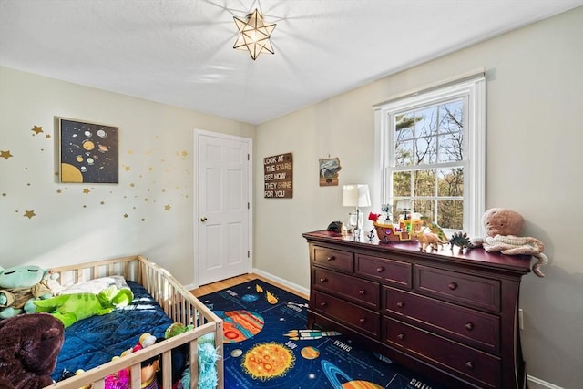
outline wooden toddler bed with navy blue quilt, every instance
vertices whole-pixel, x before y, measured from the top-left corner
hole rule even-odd
[[[214,368],[218,387],[223,387],[222,321],[190,294],[169,271],[141,255],[64,266],[54,271],[59,274],[58,281],[65,288],[103,277],[123,276],[134,294],[134,300],[127,307],[76,322],[66,328],[65,343],[59,353],[53,377],[60,375],[64,369],[83,369],[85,372],[47,388],[78,389],[92,385],[93,389],[103,389],[106,387],[107,376],[129,369],[129,387],[138,389],[142,384],[141,363],[156,356],[159,356],[161,362],[162,382],[159,384],[171,388],[173,351],[184,347],[190,351],[187,361],[190,388],[198,388],[199,343],[208,343],[209,339],[213,340],[213,346],[219,354]],[[162,335],[163,339],[164,330],[173,322],[193,328],[136,353],[111,360],[120,355],[120,351],[127,350],[128,344],[131,347],[136,343],[136,329],[139,333],[152,333],[159,338]]]

